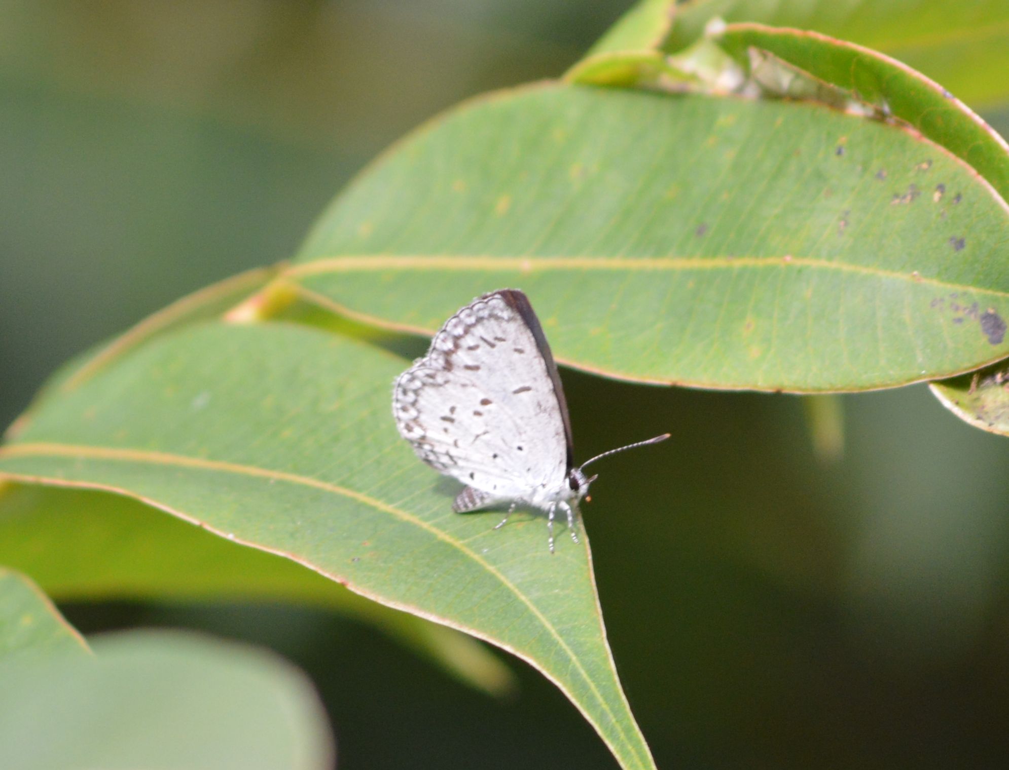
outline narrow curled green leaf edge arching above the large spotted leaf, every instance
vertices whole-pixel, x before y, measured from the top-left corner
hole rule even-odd
[[[861,45],[797,29],[733,24],[718,35],[743,58],[751,46],[769,51],[816,79],[844,89],[882,115],[907,121],[966,160],[1009,198],[1009,146],[966,105],[906,65]]]

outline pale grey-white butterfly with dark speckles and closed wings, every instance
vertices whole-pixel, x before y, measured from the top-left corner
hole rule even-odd
[[[610,450],[575,466],[564,388],[546,335],[527,296],[499,289],[450,317],[428,354],[396,380],[396,424],[417,456],[466,487],[456,513],[510,503],[547,513],[550,552],[554,516],[567,517],[578,542],[578,504],[595,481],[590,463],[657,443],[669,433]]]

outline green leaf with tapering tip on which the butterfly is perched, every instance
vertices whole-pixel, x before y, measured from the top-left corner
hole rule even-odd
[[[291,324],[162,337],[49,399],[0,475],[118,491],[352,591],[514,652],[625,768],[654,767],[606,645],[587,542],[551,555],[542,517],[492,529],[394,424],[408,361]]]

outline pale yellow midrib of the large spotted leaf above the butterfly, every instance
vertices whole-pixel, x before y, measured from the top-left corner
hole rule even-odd
[[[1009,297],[1009,291],[954,283],[939,278],[886,270],[870,265],[851,262],[797,257],[791,254],[780,257],[735,257],[728,255],[712,257],[496,257],[491,255],[348,255],[313,259],[289,268],[284,275],[300,277],[324,275],[327,273],[370,272],[377,270],[449,270],[466,272],[500,272],[515,270],[532,273],[542,270],[609,270],[609,271],[662,271],[684,270],[736,270],[742,267],[779,268],[810,267],[819,270],[868,275],[874,278],[899,280],[905,283],[925,284],[943,290],[974,291],[998,297]]]

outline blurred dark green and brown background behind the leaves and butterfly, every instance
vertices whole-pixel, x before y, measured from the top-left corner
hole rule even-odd
[[[630,5],[3,0],[0,423],[71,355],[286,258],[390,141],[563,72]],[[1009,132],[1009,105],[986,117]],[[675,437],[612,459],[584,511],[661,767],[1009,761],[1006,439],[918,386],[846,397],[845,458],[820,463],[796,398],[564,379],[577,457]],[[517,660],[499,701],[321,612],[65,609],[85,633],[176,625],[276,649],[317,682],[341,768],[615,766]]]

